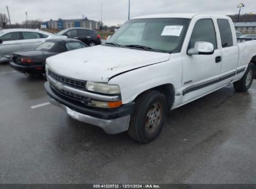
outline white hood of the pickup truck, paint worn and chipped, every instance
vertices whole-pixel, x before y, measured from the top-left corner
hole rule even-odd
[[[98,45],[47,58],[51,71],[69,78],[107,83],[115,75],[169,60],[169,53]]]

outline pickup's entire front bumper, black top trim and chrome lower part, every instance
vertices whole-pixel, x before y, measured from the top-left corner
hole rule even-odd
[[[70,103],[65,98],[60,98],[50,88],[49,82],[44,84],[49,95],[50,103],[59,106],[73,119],[101,127],[108,134],[117,134],[127,131],[130,122],[130,114],[133,112],[134,103],[125,104],[113,111],[90,109]]]

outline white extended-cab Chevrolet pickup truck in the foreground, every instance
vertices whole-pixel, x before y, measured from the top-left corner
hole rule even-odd
[[[72,118],[146,143],[168,109],[230,83],[247,91],[255,64],[256,40],[237,44],[227,16],[141,16],[105,45],[47,58],[45,90]]]

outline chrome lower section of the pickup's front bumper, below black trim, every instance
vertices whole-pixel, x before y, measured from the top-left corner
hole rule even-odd
[[[77,111],[73,111],[72,109],[65,106],[64,104],[61,104],[58,101],[55,101],[55,99],[53,98],[49,97],[49,101],[55,106],[59,106],[60,108],[64,109],[64,111],[66,111],[71,118],[101,127],[105,132],[107,132],[107,134],[117,134],[117,133],[128,130],[130,115],[123,116],[121,118],[116,118],[116,119],[94,118],[92,116],[88,116],[85,114],[78,113]]]

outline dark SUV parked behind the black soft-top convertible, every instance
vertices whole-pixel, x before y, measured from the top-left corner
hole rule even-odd
[[[83,27],[65,29],[57,33],[57,35],[66,35],[68,38],[78,39],[90,47],[102,44],[97,31]]]

